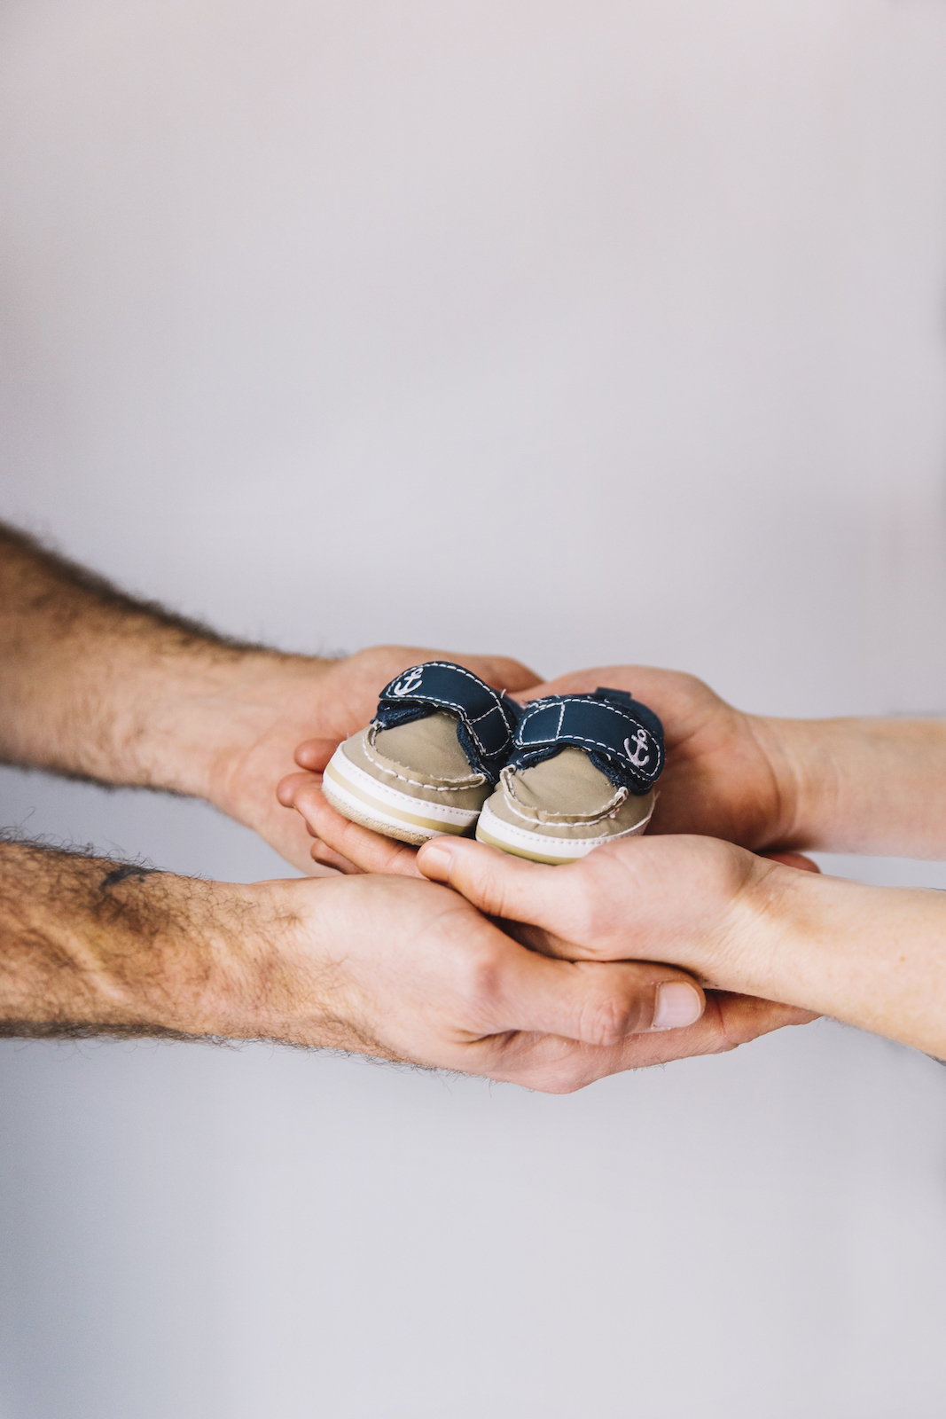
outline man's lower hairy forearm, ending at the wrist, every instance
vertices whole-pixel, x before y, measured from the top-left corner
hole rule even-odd
[[[258,927],[252,888],[3,843],[0,1034],[255,1033]]]

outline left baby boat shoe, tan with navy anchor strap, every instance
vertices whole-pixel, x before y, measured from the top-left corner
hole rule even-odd
[[[414,666],[382,690],[367,729],[338,746],[322,792],[345,817],[403,843],[468,833],[512,752],[519,712],[462,666]]]

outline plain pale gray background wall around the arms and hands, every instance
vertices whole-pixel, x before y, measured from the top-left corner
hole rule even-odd
[[[3,515],[301,650],[946,711],[940,0],[7,0]],[[201,805],[3,822],[254,880]],[[835,860],[946,885],[942,864]],[[946,1070],[0,1047],[3,1419],[909,1419]]]

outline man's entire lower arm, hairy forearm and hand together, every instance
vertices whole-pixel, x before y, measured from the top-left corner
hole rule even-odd
[[[203,883],[0,846],[0,1033],[269,1039],[547,1093],[784,1023],[674,966],[528,951],[397,877]],[[702,1017],[701,1017],[702,1015]]]

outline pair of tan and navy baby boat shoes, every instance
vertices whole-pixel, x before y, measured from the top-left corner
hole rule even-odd
[[[623,690],[525,708],[431,660],[382,690],[367,729],[335,751],[322,792],[345,817],[425,843],[474,829],[538,863],[573,863],[642,833],[664,768],[657,715]]]

